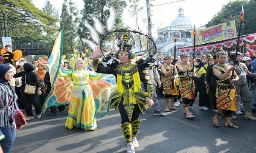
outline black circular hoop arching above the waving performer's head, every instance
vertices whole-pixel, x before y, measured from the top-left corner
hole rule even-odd
[[[152,45],[153,45],[153,48],[150,48],[150,45],[149,45],[148,51],[151,51],[151,50],[153,49],[153,55],[157,53],[157,46],[156,46],[156,43],[154,42],[154,40],[152,40],[151,37],[148,37],[148,35],[143,34],[143,33],[139,32],[139,31],[134,31],[134,30],[117,29],[117,30],[110,31],[110,32],[108,32],[107,34],[103,35],[102,39],[100,40],[99,46],[100,46],[100,48],[101,48],[101,55],[102,55],[102,57],[106,57],[106,56],[105,56],[105,53],[104,53],[104,51],[103,51],[103,49],[102,49],[102,43],[103,43],[103,41],[105,40],[105,38],[106,38],[108,35],[113,34],[113,33],[116,33],[116,32],[122,32],[122,33],[124,33],[124,32],[130,32],[130,33],[133,33],[133,34],[140,34],[140,35],[145,36],[148,40],[150,40],[150,41],[152,42]],[[149,54],[149,55],[150,55],[150,54]],[[149,58],[149,56],[147,57],[147,59],[148,59],[148,58]]]

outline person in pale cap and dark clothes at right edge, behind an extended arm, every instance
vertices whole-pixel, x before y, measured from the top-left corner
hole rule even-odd
[[[252,68],[251,61],[252,60],[250,59],[250,57],[244,57],[242,62],[246,65],[247,69],[251,73],[256,73]],[[251,93],[251,99],[252,99],[251,109],[255,113],[256,109],[254,108],[253,105],[256,104],[256,88],[255,88],[256,79],[251,78],[251,77],[246,77],[246,79],[247,79],[247,84],[248,84],[248,87],[249,87],[250,93]]]

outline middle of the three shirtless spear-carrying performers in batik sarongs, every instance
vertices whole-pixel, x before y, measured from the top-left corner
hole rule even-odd
[[[195,83],[192,77],[195,77],[195,69],[192,64],[194,59],[189,62],[189,54],[180,54],[182,62],[177,65],[178,75],[180,78],[180,94],[183,101],[183,107],[186,113],[186,118],[190,119],[195,117],[193,113],[189,112],[189,106],[192,106],[195,101]]]

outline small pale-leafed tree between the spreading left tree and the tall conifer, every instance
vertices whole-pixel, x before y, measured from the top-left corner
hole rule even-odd
[[[56,19],[55,22],[50,23],[49,27],[45,29],[46,30],[45,32],[47,33],[45,35],[46,40],[48,42],[53,42],[59,32],[58,26],[57,26],[57,22],[59,18],[58,10],[53,7],[53,5],[50,3],[49,0],[47,0],[43,7],[43,11],[47,13],[49,16],[54,17]]]

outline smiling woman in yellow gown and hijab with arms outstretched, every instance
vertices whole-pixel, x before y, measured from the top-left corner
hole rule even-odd
[[[72,129],[73,126],[85,130],[95,130],[96,124],[96,105],[93,98],[93,91],[89,84],[89,77],[98,79],[99,75],[90,74],[84,69],[84,60],[77,59],[74,70],[61,70],[60,77],[71,77],[73,88],[71,91],[70,106],[65,127]]]

